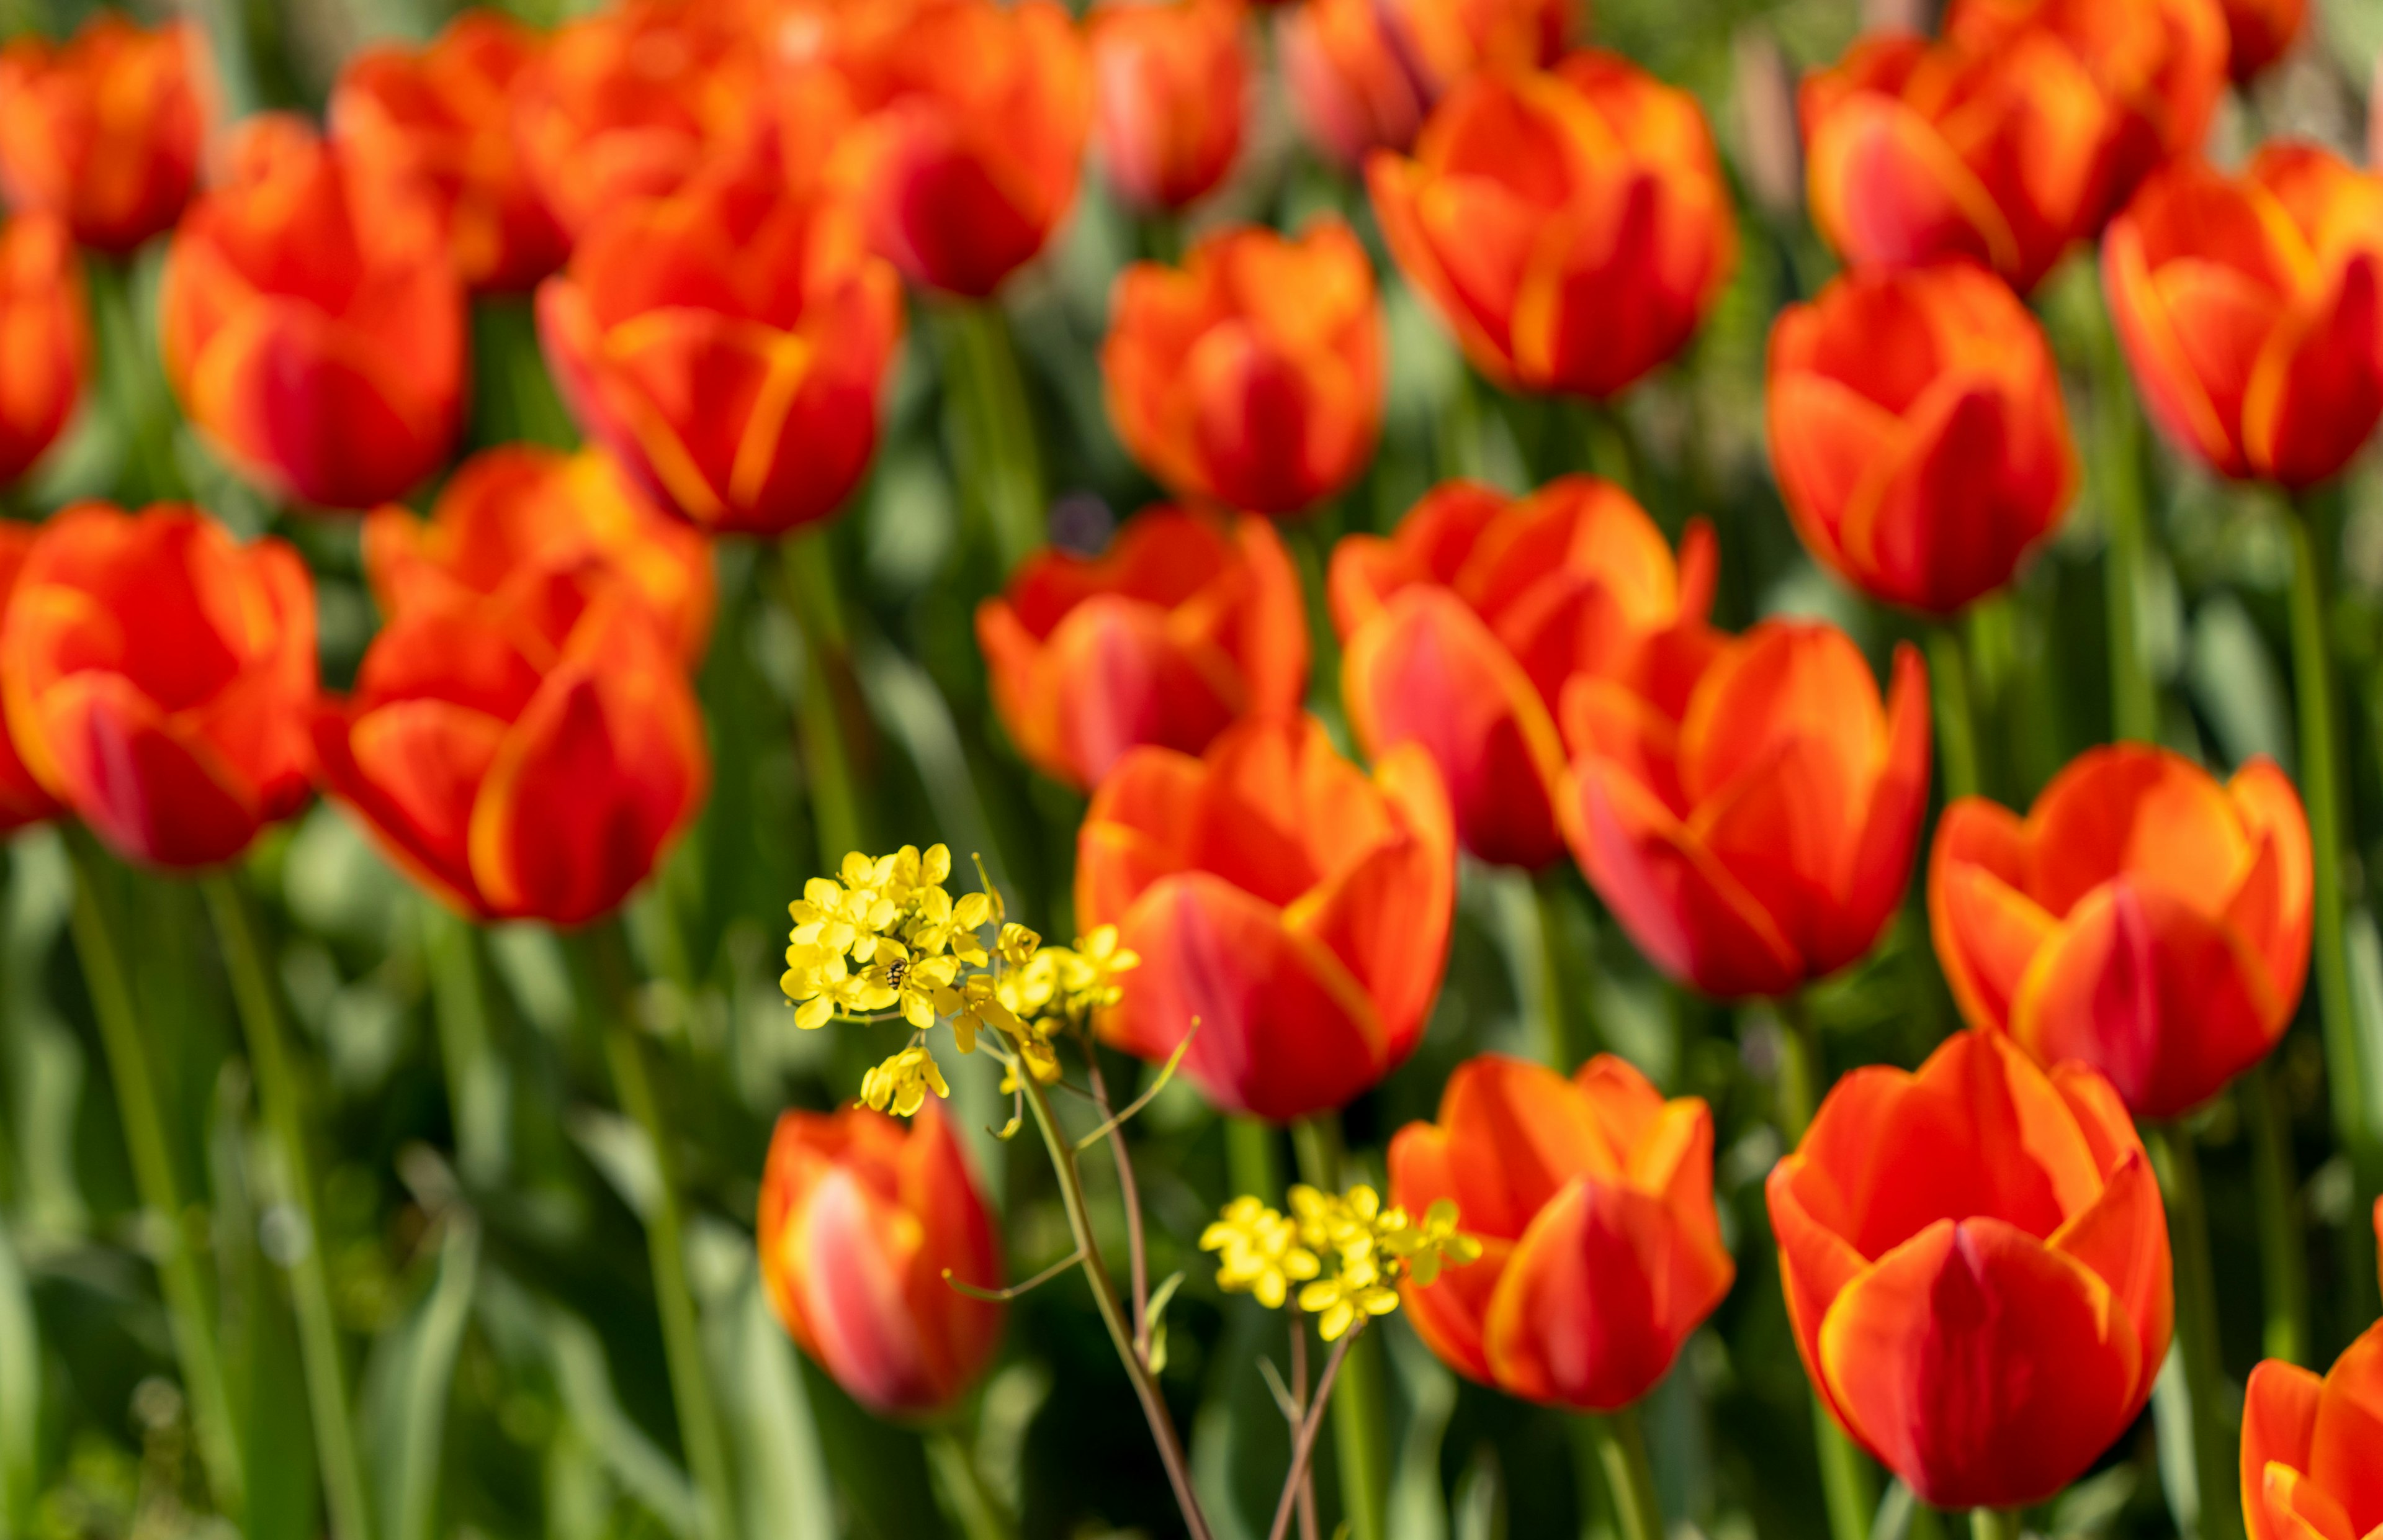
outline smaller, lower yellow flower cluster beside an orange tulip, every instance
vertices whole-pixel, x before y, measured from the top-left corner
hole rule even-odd
[[[1477,1240],[1456,1230],[1449,1199],[1416,1223],[1406,1209],[1385,1209],[1382,1194],[1363,1182],[1339,1197],[1292,1187],[1289,1216],[1237,1197],[1199,1244],[1218,1252],[1218,1287],[1256,1294],[1268,1309],[1282,1306],[1292,1283],[1304,1285],[1299,1309],[1318,1316],[1325,1342],[1337,1342],[1358,1316],[1399,1309],[1396,1285],[1427,1285],[1442,1266],[1461,1268],[1482,1254]]]

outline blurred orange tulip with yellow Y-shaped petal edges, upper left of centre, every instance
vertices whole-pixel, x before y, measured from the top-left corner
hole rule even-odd
[[[784,534],[870,465],[901,281],[848,210],[753,155],[598,222],[539,288],[539,334],[579,424],[665,503]]]

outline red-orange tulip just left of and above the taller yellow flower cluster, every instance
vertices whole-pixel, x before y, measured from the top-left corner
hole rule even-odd
[[[624,584],[548,572],[400,608],[315,713],[324,791],[472,918],[584,925],[703,806],[703,715]]]

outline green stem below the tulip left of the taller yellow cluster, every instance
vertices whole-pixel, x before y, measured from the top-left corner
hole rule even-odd
[[[696,1533],[708,1540],[732,1540],[736,1533],[736,1490],[729,1485],[727,1442],[720,1433],[720,1404],[703,1359],[703,1321],[686,1283],[686,1221],[679,1211],[679,1163],[672,1151],[662,1104],[653,1094],[646,1068],[646,1044],[636,1030],[634,980],[620,920],[598,920],[584,932],[584,956],[593,975],[596,1008],[603,1013],[603,1056],[612,1070],[612,1094],[620,1109],[646,1135],[653,1154],[653,1201],[646,1221],[646,1254],[653,1263],[653,1302],[662,1318],[662,1359],[670,1366],[670,1399],[679,1411],[679,1442],[701,1499]]]

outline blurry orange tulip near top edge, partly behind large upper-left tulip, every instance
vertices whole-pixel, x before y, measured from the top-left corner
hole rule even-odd
[[[365,179],[429,188],[472,288],[529,288],[570,255],[512,143],[512,93],[536,57],[536,33],[469,10],[427,48],[357,52],[331,91],[331,143]]]

